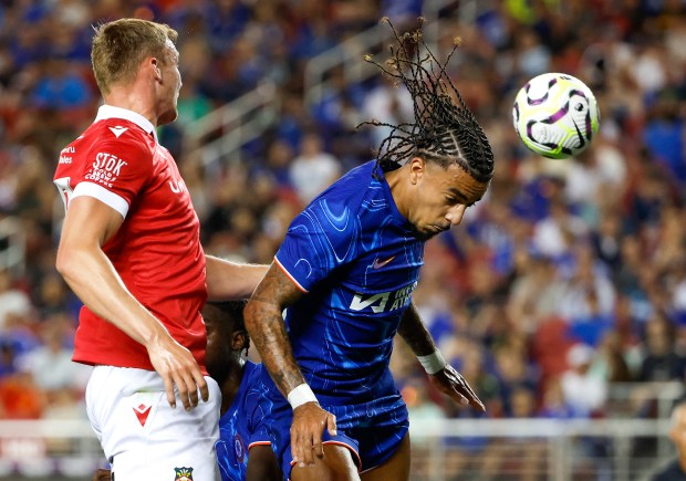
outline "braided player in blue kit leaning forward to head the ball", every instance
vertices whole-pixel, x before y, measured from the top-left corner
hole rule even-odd
[[[414,123],[391,126],[376,161],[297,216],[246,307],[267,368],[272,447],[293,481],[409,478],[407,409],[388,369],[396,333],[435,386],[484,410],[437,351],[412,292],[425,242],[481,199],[493,156],[447,62],[419,31],[396,40],[391,62],[373,63],[407,86]]]

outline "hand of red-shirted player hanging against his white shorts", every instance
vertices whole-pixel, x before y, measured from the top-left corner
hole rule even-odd
[[[172,336],[166,336],[154,345],[147,346],[147,352],[153,367],[165,383],[169,406],[176,407],[174,386],[187,411],[198,405],[198,390],[204,401],[209,399],[207,381],[190,351],[174,341]]]

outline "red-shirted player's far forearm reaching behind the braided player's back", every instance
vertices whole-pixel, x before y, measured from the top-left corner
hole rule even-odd
[[[207,263],[207,294],[210,301],[248,299],[262,280],[269,265],[239,264],[205,255]]]

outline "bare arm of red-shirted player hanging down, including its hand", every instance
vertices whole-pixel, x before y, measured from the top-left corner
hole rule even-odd
[[[91,311],[147,348],[165,381],[169,405],[176,406],[176,385],[184,407],[190,409],[198,404],[198,388],[204,400],[209,396],[199,366],[190,352],[128,292],[102,250],[122,222],[119,212],[93,197],[72,199],[58,248],[58,271]]]

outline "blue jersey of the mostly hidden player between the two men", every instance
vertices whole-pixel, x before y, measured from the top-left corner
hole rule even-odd
[[[261,370],[261,365],[246,363],[233,402],[219,419],[216,447],[222,481],[245,480],[250,447],[270,443],[267,428],[262,425],[266,412],[259,406]]]

